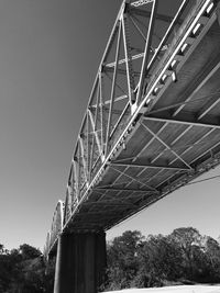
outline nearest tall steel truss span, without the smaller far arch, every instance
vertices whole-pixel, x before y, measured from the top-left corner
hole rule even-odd
[[[158,63],[158,56],[162,58],[165,54],[164,47],[174,34],[173,27],[189,2],[183,1],[170,25],[166,15],[158,14],[157,18],[158,0],[122,3],[99,66],[73,156],[69,183],[76,203],[143,101],[143,88],[151,76],[151,68]],[[136,10],[138,5],[146,3],[147,10],[141,10],[142,13]],[[140,24],[143,21],[145,26]],[[157,21],[167,25],[164,37],[161,32],[162,42],[155,37],[158,34],[154,27]],[[133,54],[135,49],[141,53]]]

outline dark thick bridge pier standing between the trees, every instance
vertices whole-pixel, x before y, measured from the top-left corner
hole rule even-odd
[[[54,293],[97,293],[105,281],[106,233],[62,234]]]

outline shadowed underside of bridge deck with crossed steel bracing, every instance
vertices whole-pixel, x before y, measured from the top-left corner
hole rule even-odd
[[[70,228],[113,226],[219,164],[220,27],[217,20],[161,91],[73,215]],[[163,60],[162,60],[163,61]]]

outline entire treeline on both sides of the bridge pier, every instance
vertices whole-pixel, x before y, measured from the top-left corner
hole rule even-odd
[[[220,244],[193,227],[169,235],[127,230],[107,244],[108,268],[101,291],[187,283],[220,283]],[[0,245],[0,293],[53,293],[55,258],[26,244]]]

